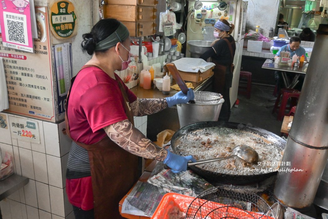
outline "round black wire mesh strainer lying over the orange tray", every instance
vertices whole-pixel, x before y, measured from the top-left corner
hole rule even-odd
[[[266,213],[270,206],[260,196],[233,186],[208,189],[189,205],[186,218],[262,218],[275,219]],[[262,212],[262,213],[259,213]]]

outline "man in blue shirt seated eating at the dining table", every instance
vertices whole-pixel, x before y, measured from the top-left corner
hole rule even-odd
[[[293,57],[293,55],[297,55],[297,59],[299,60],[301,58],[302,55],[304,55],[305,57],[305,60],[304,61],[307,61],[306,59],[306,52],[305,52],[305,49],[303,47],[300,47],[299,45],[301,44],[301,39],[298,37],[298,36],[293,36],[290,38],[289,40],[289,44],[281,47],[279,49],[279,51],[277,52],[275,58],[277,57],[280,57],[280,52],[281,51],[287,51],[287,52],[290,52],[290,58]],[[293,80],[295,74],[294,73],[286,73],[286,75],[288,76],[288,78],[290,80]],[[279,92],[280,92],[280,89],[282,88],[283,86],[283,79],[282,79],[282,75],[281,75],[281,71],[275,71],[275,79],[276,79],[276,85],[277,85],[277,90],[278,90],[278,95],[279,95]],[[302,85],[303,85],[303,81],[304,81],[304,75],[300,75],[298,77],[298,80],[300,81],[297,86],[295,87],[295,89],[297,90],[300,90],[302,88]]]

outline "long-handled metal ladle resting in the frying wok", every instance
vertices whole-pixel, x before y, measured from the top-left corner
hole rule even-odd
[[[257,164],[257,162],[258,162],[258,153],[256,152],[256,150],[254,150],[253,148],[251,148],[247,145],[237,145],[233,149],[232,153],[233,153],[233,155],[228,156],[228,157],[219,157],[219,158],[211,158],[211,159],[207,159],[207,160],[198,160],[196,162],[189,161],[188,167],[195,166],[198,164],[207,164],[207,163],[220,161],[220,160],[227,160],[227,159],[233,158],[235,156],[241,158],[244,161],[252,163],[252,164]]]

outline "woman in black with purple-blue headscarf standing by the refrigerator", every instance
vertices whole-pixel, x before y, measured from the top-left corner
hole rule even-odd
[[[236,51],[235,39],[230,35],[234,27],[225,19],[218,20],[214,25],[214,37],[217,39],[212,43],[212,49],[207,50],[199,57],[205,61],[211,57],[215,64],[213,88],[216,93],[222,94],[224,98],[218,120],[226,122],[230,118],[229,91],[233,77],[233,68],[231,67]]]

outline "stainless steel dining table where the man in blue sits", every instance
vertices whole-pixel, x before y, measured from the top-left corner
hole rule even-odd
[[[303,67],[298,68],[298,67],[290,67],[287,65],[278,65],[278,63],[273,63],[271,59],[266,59],[265,62],[262,65],[262,69],[271,69],[271,70],[277,70],[282,72],[282,79],[284,81],[285,87],[286,88],[294,88],[298,81],[299,75],[300,74],[305,74],[307,70],[308,63],[303,65]],[[295,77],[293,80],[290,82],[286,72],[292,72],[295,73]]]

